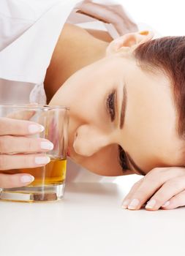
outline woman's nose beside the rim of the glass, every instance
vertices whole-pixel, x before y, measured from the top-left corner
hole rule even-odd
[[[101,148],[110,144],[110,136],[98,129],[82,125],[78,128],[73,148],[77,154],[84,157],[91,157]]]

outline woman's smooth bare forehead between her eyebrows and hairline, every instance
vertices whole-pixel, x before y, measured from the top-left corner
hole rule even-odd
[[[162,72],[148,72],[128,62],[123,79],[127,86],[124,148],[127,145],[135,159],[145,156],[151,163],[155,159],[176,165],[183,143],[176,129],[178,118],[170,80]]]

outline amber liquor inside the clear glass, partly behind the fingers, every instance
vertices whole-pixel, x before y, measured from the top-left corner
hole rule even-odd
[[[24,169],[14,169],[1,171],[0,173],[29,173],[34,176],[34,181],[29,184],[31,186],[49,186],[62,184],[66,178],[66,159],[52,159],[43,167],[36,168],[24,168]]]

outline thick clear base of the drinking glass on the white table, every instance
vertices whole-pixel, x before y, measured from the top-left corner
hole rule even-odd
[[[48,202],[61,200],[64,196],[65,184],[56,184],[45,187],[19,187],[12,189],[2,189],[0,200],[14,202]]]

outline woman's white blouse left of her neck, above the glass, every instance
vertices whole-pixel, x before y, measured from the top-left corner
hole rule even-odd
[[[78,0],[0,1],[0,104],[45,104],[46,69]]]

